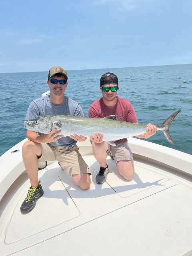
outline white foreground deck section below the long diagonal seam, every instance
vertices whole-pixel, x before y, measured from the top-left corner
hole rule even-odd
[[[177,184],[28,246],[16,255],[41,251],[45,255],[97,256],[101,254],[97,245],[102,246],[102,255],[110,256],[190,255],[186,253],[192,250],[191,198],[192,188]]]

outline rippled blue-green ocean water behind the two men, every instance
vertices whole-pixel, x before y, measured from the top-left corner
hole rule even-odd
[[[118,96],[134,106],[138,122],[162,124],[177,110],[172,121],[170,144],[158,131],[150,142],[192,154],[192,64],[95,70],[68,70],[66,96],[78,102],[84,115],[88,107],[102,96],[102,74],[118,76]],[[0,155],[26,138],[23,120],[30,102],[49,90],[46,72],[0,74]]]

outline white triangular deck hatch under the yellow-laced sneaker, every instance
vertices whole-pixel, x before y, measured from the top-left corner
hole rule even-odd
[[[31,212],[20,213],[20,206],[27,195],[28,188],[18,200],[6,234],[6,244],[32,236],[79,216],[80,212],[69,198],[58,176],[44,178],[42,184],[44,195],[36,202],[36,207]]]

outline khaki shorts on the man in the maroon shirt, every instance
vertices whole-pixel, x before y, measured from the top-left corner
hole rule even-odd
[[[127,142],[121,142],[116,144],[116,146],[108,145],[107,153],[110,152],[116,164],[118,161],[122,160],[129,160],[133,162],[133,154]]]

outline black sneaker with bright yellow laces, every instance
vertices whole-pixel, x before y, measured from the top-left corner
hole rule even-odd
[[[27,197],[23,201],[21,205],[21,212],[28,213],[33,210],[35,207],[36,201],[43,195],[43,189],[39,181],[39,188],[30,187],[28,190]]]

